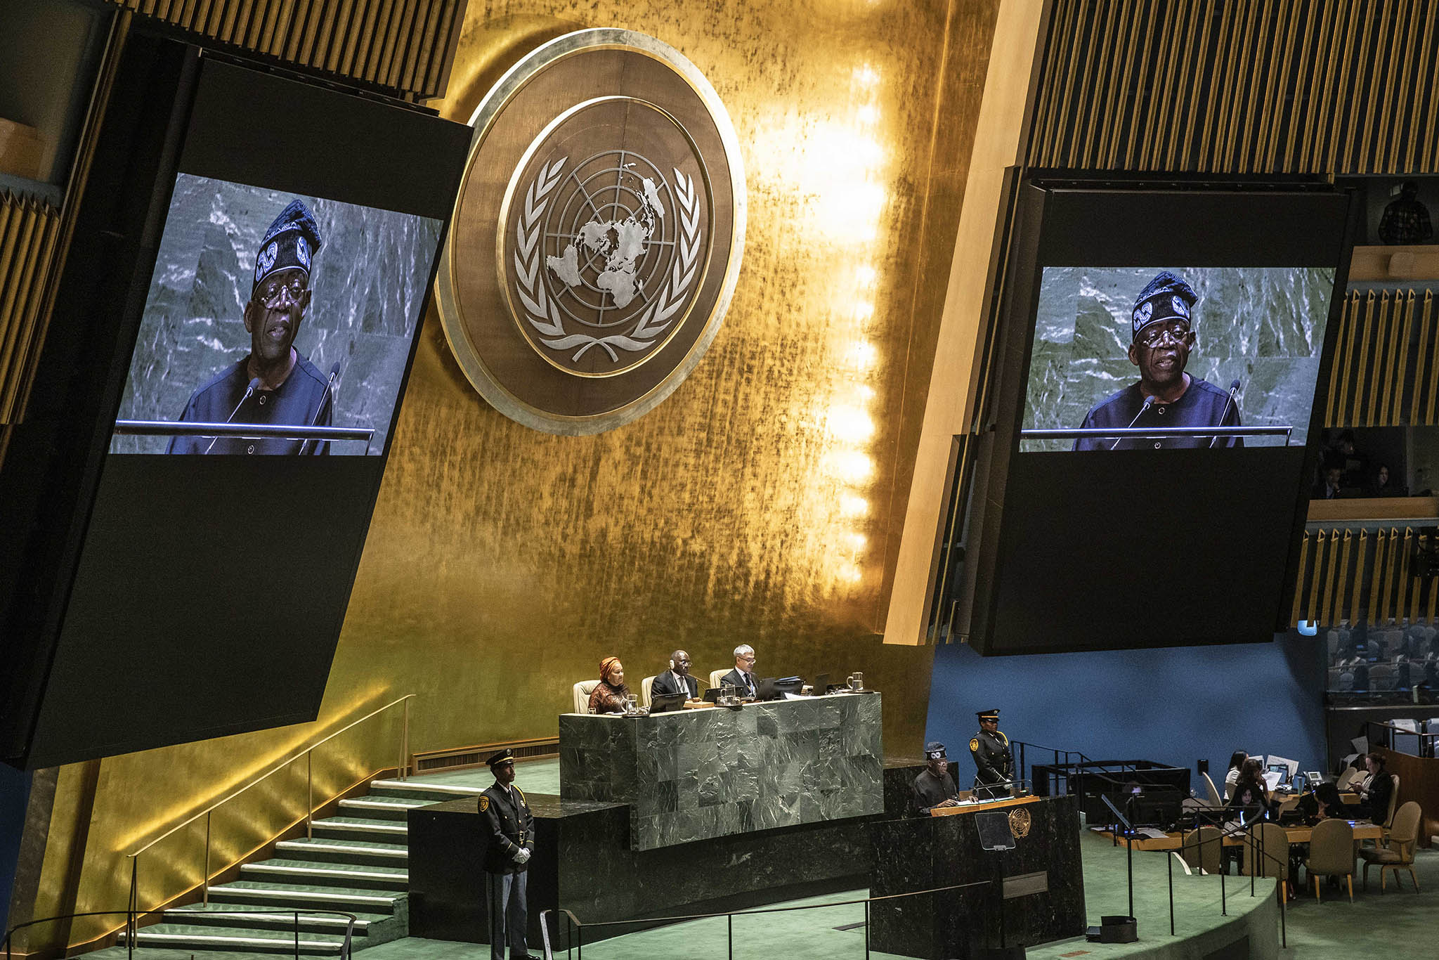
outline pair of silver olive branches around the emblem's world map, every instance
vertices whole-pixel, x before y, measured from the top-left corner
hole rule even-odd
[[[554,163],[540,167],[540,173],[525,190],[525,209],[515,223],[515,292],[525,307],[525,320],[545,337],[540,341],[545,347],[553,350],[578,347],[570,357],[571,361],[577,361],[590,348],[599,347],[610,356],[612,361],[619,361],[616,347],[635,353],[653,345],[655,338],[673,322],[675,314],[684,307],[685,296],[695,282],[701,239],[695,181],[678,168],[672,168],[675,170],[675,190],[672,193],[681,212],[679,256],[675,258],[665,289],[649,304],[639,324],[629,334],[610,334],[607,337],[570,334],[564,330],[564,321],[554,298],[545,292],[540,275],[544,258],[538,243],[544,214],[550,206],[550,193],[560,183],[567,160],[568,157],[560,157]]]

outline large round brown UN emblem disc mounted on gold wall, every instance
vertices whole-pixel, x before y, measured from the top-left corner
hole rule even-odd
[[[722,104],[653,37],[583,30],[517,63],[472,125],[437,289],[466,377],[551,433],[645,415],[698,364],[738,279],[744,173]]]

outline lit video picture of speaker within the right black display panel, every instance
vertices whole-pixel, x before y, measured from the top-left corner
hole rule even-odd
[[[1333,295],[1322,266],[1046,266],[1019,449],[1302,448]]]

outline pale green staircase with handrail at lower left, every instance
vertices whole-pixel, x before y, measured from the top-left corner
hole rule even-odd
[[[206,953],[338,957],[344,911],[357,917],[353,948],[409,934],[409,812],[476,796],[479,787],[423,780],[371,780],[363,797],[340,800],[314,820],[311,838],[279,841],[271,859],[243,864],[237,879],[210,887],[206,904],[165,910],[141,927],[137,947]],[[121,933],[119,944],[125,944]]]

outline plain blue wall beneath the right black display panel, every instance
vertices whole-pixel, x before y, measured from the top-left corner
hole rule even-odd
[[[1216,783],[1235,750],[1324,769],[1320,642],[1281,635],[1274,643],[987,658],[951,643],[934,653],[927,738],[948,747],[961,789],[974,774],[974,711],[991,707],[1010,740],[1097,760],[1194,767],[1207,759]]]

